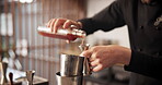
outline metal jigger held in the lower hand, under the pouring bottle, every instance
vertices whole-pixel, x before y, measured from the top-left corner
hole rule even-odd
[[[79,46],[81,51],[85,51],[90,48],[89,44],[82,44]],[[91,69],[90,69],[90,64],[89,64],[89,58],[85,57],[84,59],[84,65],[83,65],[83,75],[90,75],[91,73]]]

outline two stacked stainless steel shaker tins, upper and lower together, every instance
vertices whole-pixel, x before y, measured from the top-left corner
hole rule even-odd
[[[84,57],[61,54],[60,60],[57,85],[82,85]]]

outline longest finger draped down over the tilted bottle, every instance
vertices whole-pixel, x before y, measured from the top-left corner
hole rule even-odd
[[[54,24],[53,32],[54,33],[57,33],[57,29],[60,26],[62,26],[66,21],[67,21],[66,19],[57,19],[56,22],[55,22],[55,24]]]

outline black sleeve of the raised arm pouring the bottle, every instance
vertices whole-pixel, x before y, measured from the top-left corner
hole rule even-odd
[[[120,1],[124,0],[114,1],[93,17],[79,20],[82,23],[82,29],[89,35],[99,29],[107,32],[115,27],[124,26],[125,21]]]

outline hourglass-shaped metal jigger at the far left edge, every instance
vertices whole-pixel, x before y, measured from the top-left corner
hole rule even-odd
[[[7,62],[0,62],[0,70],[1,70],[1,80],[0,80],[0,85],[8,85],[8,80],[7,80],[7,69],[8,69],[8,63]]]

